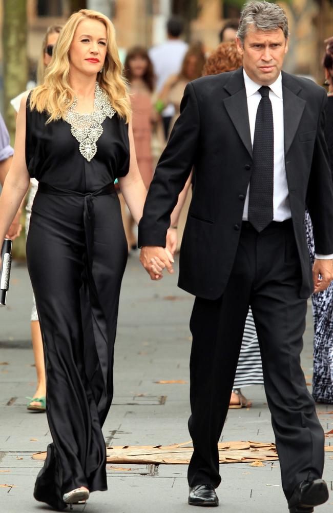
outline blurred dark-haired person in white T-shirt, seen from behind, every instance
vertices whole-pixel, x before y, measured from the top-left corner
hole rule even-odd
[[[168,41],[161,45],[154,46],[149,50],[149,56],[156,75],[157,92],[161,91],[170,75],[174,75],[180,71],[184,55],[188,50],[188,44],[180,38],[183,30],[184,23],[182,18],[172,16],[166,24]],[[170,104],[160,110],[164,127],[164,137],[165,140],[167,140],[170,133],[169,125],[175,115],[175,109],[173,105]]]

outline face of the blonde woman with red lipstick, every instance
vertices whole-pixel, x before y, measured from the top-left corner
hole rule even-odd
[[[84,19],[75,30],[69,49],[71,68],[85,75],[96,75],[107,55],[107,29],[97,19]]]

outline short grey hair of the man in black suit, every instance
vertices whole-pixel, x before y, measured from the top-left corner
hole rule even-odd
[[[280,28],[286,39],[289,35],[286,13],[282,7],[270,2],[247,2],[244,5],[237,31],[237,37],[242,44],[248,26],[251,25],[255,30],[276,30]]]

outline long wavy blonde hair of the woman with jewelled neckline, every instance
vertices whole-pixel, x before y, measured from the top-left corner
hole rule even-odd
[[[81,9],[72,14],[61,30],[53,49],[52,61],[45,71],[44,82],[31,93],[30,108],[38,112],[48,112],[47,123],[66,116],[75,96],[69,83],[69,50],[78,24],[87,18],[97,19],[107,29],[107,54],[103,71],[97,73],[96,80],[108,94],[112,107],[128,123],[131,117],[130,100],[126,79],[122,76],[114,26],[107,16],[89,9]]]

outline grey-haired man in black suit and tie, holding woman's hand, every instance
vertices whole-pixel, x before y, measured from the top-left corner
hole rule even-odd
[[[217,444],[249,305],[290,513],[309,513],[328,498],[321,479],[324,433],[300,366],[307,298],[333,277],[326,93],[281,72],[287,42],[281,7],[244,6],[237,38],[243,68],[186,87],[139,225],[141,262],[159,280],[165,267],[173,272],[165,235],[194,167],[179,275],[179,286],[196,296],[190,323],[193,505],[218,505]],[[306,207],[316,244],[312,271]]]

